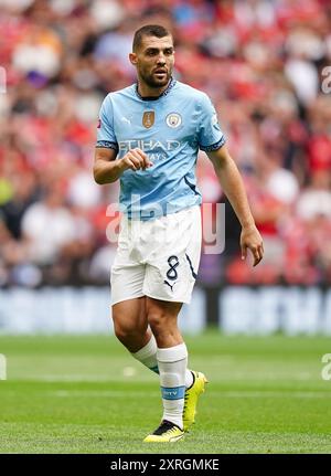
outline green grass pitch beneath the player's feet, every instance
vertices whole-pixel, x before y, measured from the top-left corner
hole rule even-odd
[[[170,445],[158,375],[108,336],[0,336],[1,453],[331,453],[331,380],[322,337],[186,337],[210,379],[196,424]]]

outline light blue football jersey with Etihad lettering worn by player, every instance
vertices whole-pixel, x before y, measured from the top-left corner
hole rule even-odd
[[[201,204],[197,151],[224,144],[209,96],[174,78],[157,98],[141,97],[134,84],[109,93],[100,108],[96,147],[115,149],[117,159],[138,147],[153,162],[120,177],[120,209],[129,219],[152,220]]]

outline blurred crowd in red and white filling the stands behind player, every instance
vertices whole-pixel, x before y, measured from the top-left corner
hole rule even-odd
[[[136,81],[128,53],[147,23],[173,32],[175,77],[213,99],[265,241],[253,269],[201,152],[226,247],[203,254],[200,281],[330,284],[329,0],[0,0],[0,286],[108,283],[118,184],[92,180],[97,116]]]

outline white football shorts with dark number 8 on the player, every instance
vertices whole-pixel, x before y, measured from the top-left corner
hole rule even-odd
[[[111,304],[149,296],[190,303],[201,254],[200,207],[152,221],[120,221]]]

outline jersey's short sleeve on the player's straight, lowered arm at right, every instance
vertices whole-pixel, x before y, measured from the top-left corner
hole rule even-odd
[[[225,136],[220,127],[215,107],[206,94],[202,96],[201,108],[199,147],[211,152],[225,144]]]

